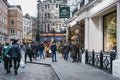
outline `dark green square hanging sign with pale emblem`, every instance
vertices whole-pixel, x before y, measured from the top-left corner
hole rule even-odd
[[[59,18],[70,18],[70,7],[59,7]]]

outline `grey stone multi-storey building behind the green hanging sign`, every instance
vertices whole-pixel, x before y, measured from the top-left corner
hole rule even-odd
[[[56,32],[64,32],[63,28],[65,27],[65,19],[59,18],[59,6],[65,4],[66,1],[64,0],[44,0],[43,2],[40,1],[38,3],[38,26],[40,30],[40,36],[42,36],[44,33],[45,35],[53,34],[52,36],[54,36],[54,33]],[[65,39],[65,36],[61,36],[61,39],[62,38]]]

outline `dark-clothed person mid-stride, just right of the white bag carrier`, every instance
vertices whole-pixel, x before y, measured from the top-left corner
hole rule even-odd
[[[32,48],[30,43],[27,43],[25,45],[25,64],[26,64],[27,56],[29,57],[30,62],[32,62]]]

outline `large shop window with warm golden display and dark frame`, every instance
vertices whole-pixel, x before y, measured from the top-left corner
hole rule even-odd
[[[104,51],[116,50],[117,48],[117,13],[113,12],[103,17],[104,20]]]

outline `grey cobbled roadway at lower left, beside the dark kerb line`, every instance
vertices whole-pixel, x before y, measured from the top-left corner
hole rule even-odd
[[[27,63],[24,69],[18,70],[18,75],[14,74],[13,67],[11,73],[7,74],[0,64],[0,80],[59,80],[53,70],[48,65]]]

